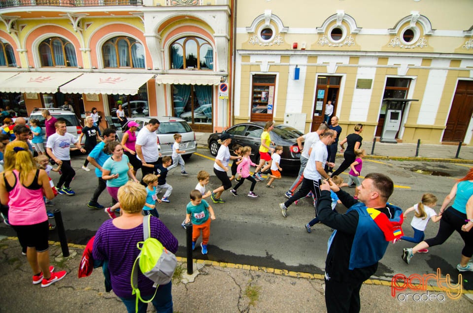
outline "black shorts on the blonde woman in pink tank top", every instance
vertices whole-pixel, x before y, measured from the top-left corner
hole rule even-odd
[[[47,220],[33,225],[11,225],[18,240],[27,247],[43,252],[49,249],[49,222]]]

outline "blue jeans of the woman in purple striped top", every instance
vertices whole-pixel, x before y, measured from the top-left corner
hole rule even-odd
[[[153,304],[156,312],[158,313],[172,313],[172,295],[171,295],[171,288],[172,282],[169,282],[165,285],[160,285],[158,287],[158,292],[156,292],[156,297],[154,297],[151,303]],[[141,296],[144,300],[149,300],[153,297],[153,295]],[[129,298],[122,298],[120,299],[123,301],[125,307],[129,313],[135,313],[135,306],[136,306],[136,296],[129,297]],[[141,301],[138,302],[138,312],[137,313],[146,313],[148,308],[147,303],[143,303]]]

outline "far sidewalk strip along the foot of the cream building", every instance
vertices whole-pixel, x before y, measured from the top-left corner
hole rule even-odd
[[[196,132],[197,144],[200,148],[206,148],[209,133]],[[448,162],[473,163],[473,147],[462,146],[458,158],[455,158],[458,145],[430,145],[420,144],[419,154],[416,157],[417,144],[409,143],[382,143],[376,142],[374,152],[371,154],[373,142],[363,141],[362,148],[366,150],[367,158],[391,158],[405,160],[439,160]],[[338,149],[339,150],[339,149]],[[338,156],[342,156],[338,154]]]

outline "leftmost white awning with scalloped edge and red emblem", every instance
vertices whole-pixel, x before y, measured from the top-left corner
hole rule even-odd
[[[20,73],[0,81],[0,92],[3,93],[57,93],[61,85],[79,76],[80,73],[66,72],[28,72]]]

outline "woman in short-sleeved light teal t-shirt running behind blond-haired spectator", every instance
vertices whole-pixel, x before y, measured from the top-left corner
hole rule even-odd
[[[119,207],[117,204],[118,188],[128,182],[128,177],[136,183],[139,183],[139,181],[133,173],[133,166],[130,164],[128,156],[123,155],[123,147],[118,141],[107,143],[103,148],[103,152],[111,154],[102,165],[102,179],[107,182],[107,191],[112,197],[113,203],[113,207],[105,210],[110,209],[113,212]]]

